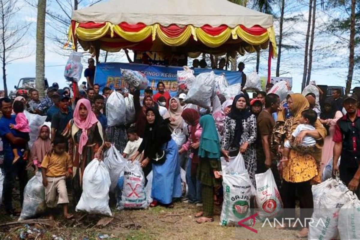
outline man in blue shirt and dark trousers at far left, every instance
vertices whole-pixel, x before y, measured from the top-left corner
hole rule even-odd
[[[15,184],[15,178],[19,178],[19,190],[20,190],[20,203],[22,205],[24,199],[24,188],[28,181],[26,171],[26,160],[21,158],[13,164],[13,151],[10,144],[23,145],[26,143],[25,139],[17,136],[17,131],[10,129],[9,124],[15,124],[15,115],[11,115],[13,107],[9,98],[3,98],[0,100],[0,108],[3,116],[0,118],[0,137],[3,141],[4,149],[4,163],[3,168],[5,172],[3,200],[6,213],[15,215],[16,212],[12,204],[13,188]],[[21,153],[20,153],[21,154]],[[21,156],[22,157],[22,156]],[[26,157],[26,156],[24,156]]]

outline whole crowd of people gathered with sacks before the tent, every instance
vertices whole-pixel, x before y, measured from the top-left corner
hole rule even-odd
[[[162,82],[158,82],[156,94],[150,88],[144,91],[142,103],[140,91],[135,89],[104,87],[100,93],[100,86],[91,77],[95,68],[91,60],[89,65],[87,82],[82,84],[88,87],[86,91],[79,87],[73,98],[68,87],[58,89],[55,85],[41,100],[36,89],[19,94],[14,101],[0,99],[6,213],[17,214],[12,203],[15,181],[19,181],[22,203],[27,169],[33,167],[35,173],[42,172],[48,207],[61,204],[64,216],[71,218],[67,204],[71,200],[76,205],[80,199],[84,169],[94,158],[101,160],[111,144],[124,158],[139,161],[145,176],[153,171],[150,207],[174,207],[174,201],[181,198],[180,168],[184,168],[188,196],[182,200],[202,206],[195,214],[198,223],[213,221],[214,205],[222,202],[220,158],[231,161],[239,152],[254,186],[255,174],[271,168],[284,208],[295,209],[297,199],[301,209],[313,208],[311,185],[320,182],[332,157],[333,174],[339,173],[348,188],[359,195],[360,112],[356,95],[342,99],[334,90],[317,113],[312,95],[290,94],[280,103],[278,95],[267,92],[257,92],[253,99],[246,92],[234,99],[219,94],[216,97],[222,108],[212,113],[184,103],[185,92],[171,97]],[[242,72],[243,64],[239,68]],[[105,105],[113,91],[133,99],[134,121],[107,126]],[[50,127],[39,128],[31,149],[25,111],[46,116],[51,122]],[[173,132],[185,133],[182,146],[172,139]],[[308,212],[301,214],[302,221],[310,217]],[[306,235],[304,227],[299,236]]]

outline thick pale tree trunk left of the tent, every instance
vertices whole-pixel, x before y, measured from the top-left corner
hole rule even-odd
[[[45,12],[46,0],[37,1],[35,85],[40,97],[45,96]]]

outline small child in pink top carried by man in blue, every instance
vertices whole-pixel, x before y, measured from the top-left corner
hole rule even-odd
[[[27,118],[24,114],[24,103],[22,101],[14,101],[13,109],[14,109],[14,113],[16,113],[16,117],[15,117],[16,124],[10,123],[9,126],[11,129],[15,129],[20,133],[19,137],[29,141],[30,127],[29,127],[29,122],[27,121]],[[14,154],[13,164],[17,162],[17,160],[19,160],[20,158],[19,151],[24,151],[24,155],[25,155],[25,151],[28,151],[27,144],[22,146],[11,145],[11,147],[13,149],[13,154]]]

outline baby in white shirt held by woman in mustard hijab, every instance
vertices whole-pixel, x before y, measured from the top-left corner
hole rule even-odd
[[[317,118],[318,118],[318,114],[316,114],[314,110],[307,109],[302,111],[301,117],[299,119],[300,124],[295,128],[295,131],[291,134],[291,139],[286,140],[284,143],[283,158],[281,162],[288,160],[288,155],[290,151],[289,149],[291,148],[296,148],[298,151],[304,154],[314,152],[315,144],[316,144],[316,140],[314,137],[306,135],[302,139],[300,146],[295,146],[294,140],[297,137],[297,135],[303,130],[310,130],[310,131],[315,130],[314,124]]]

